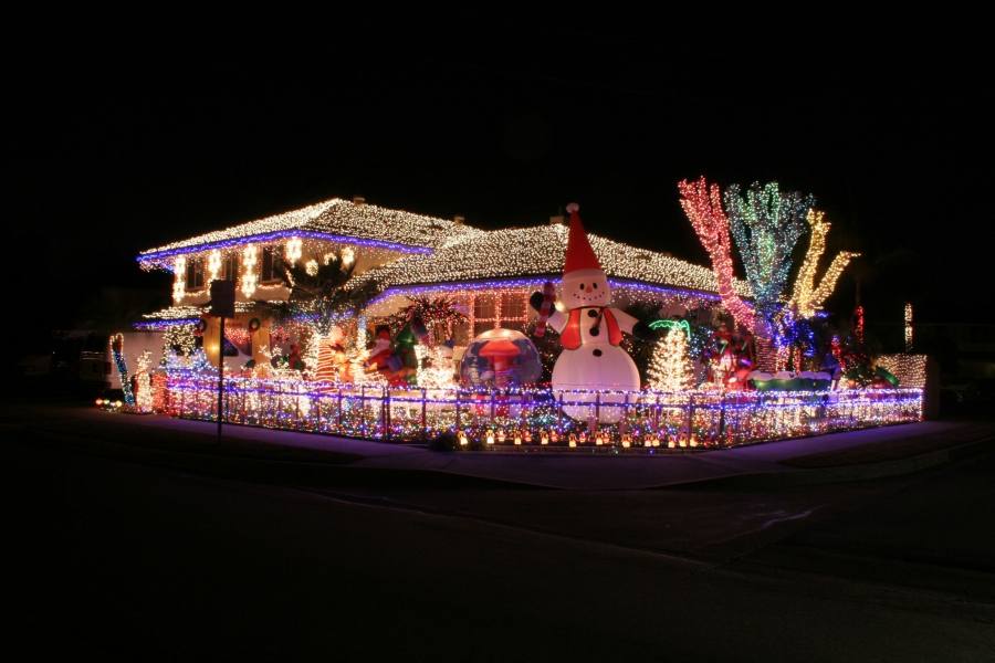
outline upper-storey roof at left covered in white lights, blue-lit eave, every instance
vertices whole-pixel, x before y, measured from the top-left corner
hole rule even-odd
[[[470,229],[447,219],[333,198],[156,246],[143,251],[138,255],[138,262],[143,269],[169,269],[170,259],[181,253],[289,236],[379,246],[402,253],[429,253],[453,233],[468,230]]]

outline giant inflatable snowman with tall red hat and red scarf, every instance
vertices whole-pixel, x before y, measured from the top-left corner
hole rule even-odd
[[[631,315],[612,308],[608,277],[587,241],[580,224],[577,203],[567,206],[570,230],[567,240],[566,262],[563,267],[562,308],[549,311],[546,324],[559,333],[563,351],[553,367],[553,391],[563,394],[564,401],[591,403],[565,406],[564,412],[578,420],[590,420],[598,411],[603,423],[615,423],[622,417],[624,393],[597,391],[638,391],[639,371],[629,354],[620,347],[622,334],[637,333],[642,326]],[[543,311],[544,295],[532,295],[531,304]],[[578,392],[579,391],[579,392]],[[630,400],[632,397],[629,397]],[[598,407],[594,403],[598,401]]]

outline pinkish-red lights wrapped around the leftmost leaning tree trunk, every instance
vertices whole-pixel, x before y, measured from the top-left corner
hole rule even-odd
[[[753,309],[740,297],[746,293],[735,287],[729,218],[722,209],[719,185],[709,185],[702,176],[693,182],[681,180],[678,190],[681,192],[681,208],[712,261],[713,278],[723,306],[736,323],[752,329]]]

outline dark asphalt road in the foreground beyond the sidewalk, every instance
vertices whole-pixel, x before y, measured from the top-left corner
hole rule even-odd
[[[995,660],[993,454],[578,493],[259,483],[4,436],[8,645],[31,659]]]

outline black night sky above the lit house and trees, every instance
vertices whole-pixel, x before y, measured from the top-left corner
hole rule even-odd
[[[992,318],[995,104],[970,44],[760,53],[499,21],[370,48],[371,30],[61,42],[10,72],[17,273],[57,302],[31,316],[38,337],[98,324],[101,286],[167,304],[140,250],[334,196],[482,228],[576,200],[593,232],[706,264],[675,187],[702,173],[817,197],[830,250],[865,253],[834,307],[859,274],[871,324],[900,324],[904,301],[920,320]]]

